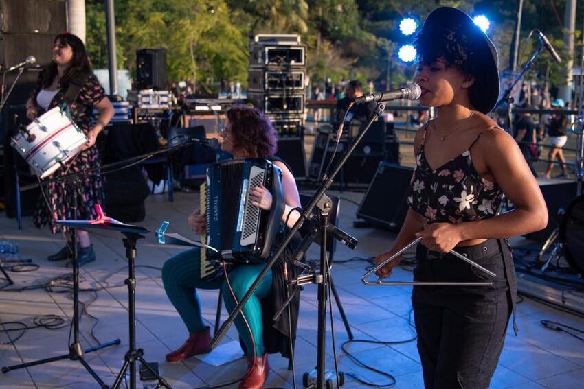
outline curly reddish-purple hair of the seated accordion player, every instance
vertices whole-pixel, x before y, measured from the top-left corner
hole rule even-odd
[[[227,110],[233,143],[251,158],[270,158],[276,154],[278,133],[271,121],[256,108],[238,104]]]

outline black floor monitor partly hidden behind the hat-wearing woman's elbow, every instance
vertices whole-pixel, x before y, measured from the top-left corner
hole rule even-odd
[[[561,217],[558,215],[559,209],[568,208],[570,202],[576,198],[576,182],[539,182],[539,189],[546,200],[548,207],[548,226],[541,231],[524,235],[527,239],[535,241],[546,241],[552,231],[558,228]]]

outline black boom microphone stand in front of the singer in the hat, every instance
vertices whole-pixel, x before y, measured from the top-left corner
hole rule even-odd
[[[385,110],[385,104],[383,102],[379,102],[377,104],[377,107],[375,108],[374,115],[372,115],[370,117],[370,119],[366,123],[366,126],[364,126],[363,130],[359,133],[359,135],[357,135],[357,138],[355,139],[355,141],[353,143],[351,143],[348,150],[341,157],[339,163],[337,163],[337,165],[335,165],[335,169],[333,169],[333,172],[330,174],[330,176],[326,176],[326,175],[324,176],[324,178],[323,178],[322,182],[320,183],[313,198],[311,198],[311,201],[308,202],[308,205],[306,205],[306,207],[304,207],[304,209],[302,209],[302,212],[300,213],[300,217],[295,222],[295,224],[291,228],[291,230],[284,237],[282,243],[280,243],[280,246],[278,246],[278,248],[273,253],[273,255],[271,255],[271,257],[269,257],[265,268],[262,270],[262,272],[260,272],[260,274],[256,278],[256,281],[254,281],[254,283],[251,284],[251,286],[249,287],[249,290],[247,291],[245,296],[243,296],[243,298],[241,298],[239,300],[239,303],[236,305],[236,307],[234,308],[232,313],[229,314],[229,318],[227,318],[227,320],[225,320],[225,322],[223,322],[223,325],[221,325],[221,328],[219,328],[218,331],[216,332],[216,334],[214,335],[214,337],[210,343],[210,346],[212,349],[214,349],[219,344],[219,342],[221,342],[221,339],[225,336],[225,334],[229,330],[229,327],[231,327],[235,318],[238,316],[238,314],[240,314],[241,310],[243,309],[243,305],[245,305],[245,303],[247,303],[247,300],[249,300],[249,298],[251,297],[251,294],[253,294],[255,292],[255,290],[258,288],[258,285],[260,284],[262,279],[264,279],[267,272],[269,272],[269,270],[272,268],[274,263],[276,263],[276,261],[278,260],[280,255],[282,255],[284,248],[286,248],[288,246],[288,244],[290,243],[290,241],[293,238],[293,235],[296,233],[296,231],[298,231],[298,228],[300,228],[300,226],[302,225],[302,223],[305,220],[308,220],[311,217],[311,214],[313,213],[313,209],[315,208],[316,204],[322,200],[324,193],[330,188],[330,185],[333,185],[333,179],[335,178],[335,176],[337,176],[337,174],[342,169],[343,165],[348,161],[348,158],[355,151],[355,148],[357,148],[357,145],[359,145],[359,142],[361,141],[361,139],[363,139],[367,130],[371,127],[372,123],[381,115],[381,113],[383,113],[383,110]],[[325,320],[326,320],[326,285],[328,285],[328,282],[329,282],[328,266],[326,266],[326,263],[327,263],[327,260],[326,260],[326,229],[328,226],[327,215],[328,215],[328,209],[330,209],[330,203],[329,203],[328,207],[323,207],[323,208],[324,208],[324,211],[319,209],[317,212],[317,214],[319,216],[319,220],[320,220],[319,231],[321,234],[320,274],[319,274],[319,277],[317,277],[318,278],[318,280],[317,280],[318,281],[318,347],[317,347],[318,359],[317,359],[317,383],[316,383],[317,385],[316,386],[318,389],[325,388],[324,368],[325,368],[325,341],[326,341],[326,337],[325,337],[325,330],[326,330],[326,327],[325,327],[325,325],[326,325],[326,322],[325,322]]]

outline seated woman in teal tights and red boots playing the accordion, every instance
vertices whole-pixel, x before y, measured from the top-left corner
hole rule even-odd
[[[233,154],[235,158],[265,158],[282,169],[282,191],[286,202],[282,222],[287,222],[289,227],[293,226],[298,218],[298,213],[293,212],[293,210],[300,207],[300,198],[289,167],[274,156],[277,134],[270,121],[254,108],[234,106],[227,111],[227,119],[225,120],[225,128],[221,132],[221,138],[223,138],[221,150]],[[263,185],[255,187],[250,193],[251,204],[260,207],[260,209],[270,209],[272,196]],[[202,233],[206,227],[206,217],[200,213],[199,209],[188,217],[188,222],[196,234]],[[199,248],[181,252],[168,259],[162,269],[162,280],[166,294],[179,311],[189,332],[188,340],[179,349],[166,355],[168,362],[178,362],[193,355],[208,353],[211,350],[209,346],[210,330],[209,327],[205,326],[201,316],[201,304],[196,294],[197,288],[222,288],[227,309],[232,311],[236,305],[224,276],[207,281],[201,280],[199,255]],[[287,263],[289,274],[295,276],[295,266],[292,266],[291,257],[291,250],[287,248],[260,283],[258,289],[245,303],[243,315],[249,327],[241,315],[235,320],[240,339],[245,344],[245,354],[249,364],[249,369],[240,383],[240,388],[262,387],[269,372],[268,353],[280,352],[284,357],[289,357],[287,310],[284,310],[284,315],[280,316],[280,320],[273,326],[264,327],[263,323],[271,322],[269,318],[286,299],[283,268],[284,262]],[[234,266],[229,270],[229,281],[237,300],[245,295],[264,267],[263,263],[245,264]],[[295,298],[291,304],[293,338],[295,338],[298,305],[299,298]]]

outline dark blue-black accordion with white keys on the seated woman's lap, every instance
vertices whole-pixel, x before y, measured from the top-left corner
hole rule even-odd
[[[235,159],[211,165],[201,185],[201,213],[207,229],[201,241],[201,278],[215,276],[218,262],[262,263],[269,257],[284,215],[282,171],[265,159]],[[264,185],[272,194],[269,211],[251,205],[249,192]]]

